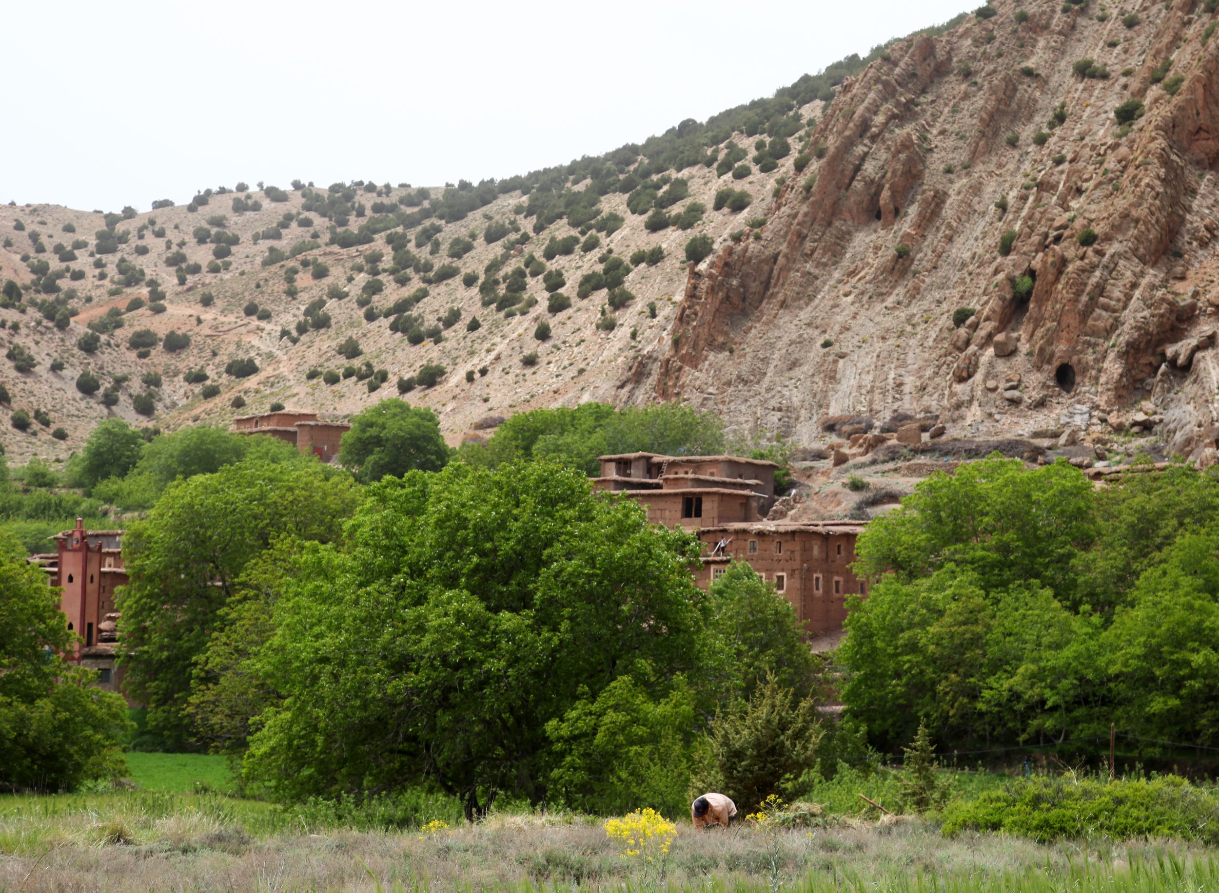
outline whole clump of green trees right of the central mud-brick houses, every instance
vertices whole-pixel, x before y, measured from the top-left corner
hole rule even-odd
[[[1095,491],[1056,463],[936,474],[861,535],[839,660],[847,713],[891,747],[1107,735],[1219,743],[1219,476]],[[1154,743],[1150,744],[1154,747]]]

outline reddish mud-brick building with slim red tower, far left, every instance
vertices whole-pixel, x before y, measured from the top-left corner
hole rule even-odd
[[[72,530],[56,534],[56,551],[30,562],[46,571],[51,586],[62,587],[60,608],[68,629],[80,637],[69,659],[98,672],[98,686],[117,692],[122,670],[115,665],[118,612],[115,590],[127,584],[123,569],[123,530],[85,530],[82,519]]]

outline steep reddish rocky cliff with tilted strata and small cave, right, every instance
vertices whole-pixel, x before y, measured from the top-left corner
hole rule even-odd
[[[1163,415],[1168,445],[1201,456],[1219,386],[1214,5],[996,0],[890,46],[842,84],[819,160],[757,239],[691,272],[631,398],[803,442],[840,415],[939,413],[968,435]]]

